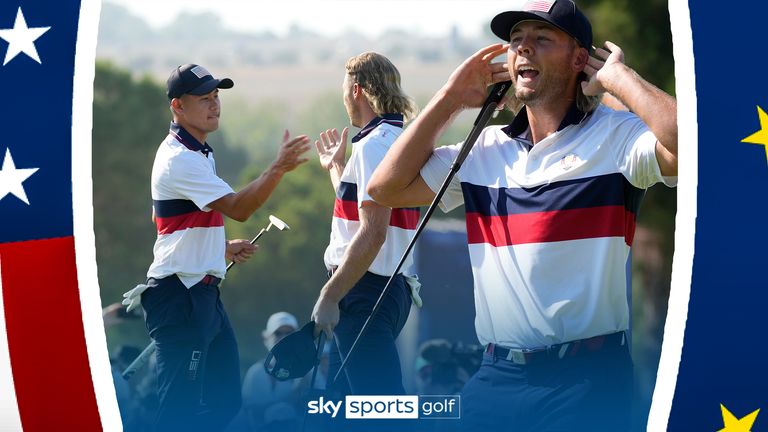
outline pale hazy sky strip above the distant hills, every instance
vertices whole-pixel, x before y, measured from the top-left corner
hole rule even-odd
[[[153,27],[173,21],[180,12],[214,12],[229,28],[244,32],[270,30],[284,35],[291,24],[335,35],[353,28],[376,36],[400,28],[442,36],[454,25],[476,36],[496,13],[524,0],[102,0],[119,4]]]

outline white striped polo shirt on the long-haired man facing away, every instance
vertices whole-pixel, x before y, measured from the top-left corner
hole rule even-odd
[[[352,138],[352,155],[347,161],[336,191],[331,240],[324,256],[327,268],[341,264],[349,243],[360,228],[358,209],[363,202],[373,201],[365,190],[371,175],[402,132],[402,128],[402,115],[385,114],[373,119]],[[387,238],[368,271],[381,276],[391,276],[413,238],[418,222],[418,208],[392,209]],[[412,263],[413,258],[409,256],[400,272],[412,274]]]

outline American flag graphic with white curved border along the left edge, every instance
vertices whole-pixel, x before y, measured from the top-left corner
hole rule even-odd
[[[98,0],[0,3],[0,79],[13,83],[0,139],[4,432],[122,429],[93,234],[98,13]]]

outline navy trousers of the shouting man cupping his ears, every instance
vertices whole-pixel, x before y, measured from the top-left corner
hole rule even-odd
[[[485,353],[462,391],[461,428],[628,431],[632,386],[627,344],[530,365]]]

